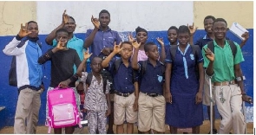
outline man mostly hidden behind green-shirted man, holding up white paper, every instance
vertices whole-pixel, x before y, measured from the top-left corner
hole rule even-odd
[[[214,20],[215,20],[214,16],[206,16],[204,18],[204,29],[207,32],[207,35],[204,35],[197,42],[194,43],[194,45],[198,45],[200,47],[200,49],[202,49],[203,46],[207,44],[207,42],[211,42],[214,39],[213,30],[212,30]],[[249,38],[249,34],[246,32],[242,36],[245,37],[245,40],[243,40],[240,43],[240,48],[242,48],[246,44],[246,41]],[[228,39],[228,38],[226,38],[226,39]],[[207,106],[207,113],[208,113],[208,117],[210,118],[210,103],[211,103],[211,101],[210,101],[209,79],[207,78],[207,76],[205,77],[204,94],[203,95],[204,95],[203,105]],[[216,134],[217,129],[215,127],[215,109],[214,109],[215,107],[214,106],[215,106],[215,100],[214,100],[214,95],[213,95],[213,134]]]

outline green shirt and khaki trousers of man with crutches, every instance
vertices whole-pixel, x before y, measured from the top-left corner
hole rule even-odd
[[[212,77],[213,93],[218,111],[222,117],[220,121],[220,134],[228,134],[232,129],[234,134],[244,134],[246,123],[244,115],[241,113],[242,95],[240,87],[235,82],[234,65],[245,61],[240,46],[235,43],[237,53],[233,58],[233,53],[228,42],[221,48],[217,42],[213,41],[214,48],[214,74]],[[204,47],[207,48],[207,45]],[[208,67],[209,60],[204,56],[204,67]]]

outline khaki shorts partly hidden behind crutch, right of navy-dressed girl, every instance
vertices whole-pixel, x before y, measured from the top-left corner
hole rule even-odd
[[[213,93],[213,83],[212,83],[212,93]],[[215,96],[213,95],[213,106],[215,106]],[[204,82],[204,94],[203,94],[203,105],[210,106],[210,87],[209,87],[209,78],[207,74],[205,75],[205,82]]]

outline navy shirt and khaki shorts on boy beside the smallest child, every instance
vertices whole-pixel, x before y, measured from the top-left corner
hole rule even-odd
[[[135,123],[138,119],[137,112],[134,111],[135,103],[135,85],[134,82],[136,74],[131,67],[131,61],[128,61],[128,67],[126,67],[122,60],[118,69],[116,68],[115,61],[113,59],[108,64],[108,71],[114,78],[114,124],[121,125],[126,120],[128,123]]]

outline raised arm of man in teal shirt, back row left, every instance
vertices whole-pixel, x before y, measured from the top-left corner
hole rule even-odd
[[[64,27],[65,23],[68,23],[69,21],[69,16],[66,14],[66,10],[64,10],[63,14],[62,14],[62,23],[53,31],[51,31],[49,33],[49,35],[46,36],[45,38],[45,42],[49,45],[53,45],[52,41],[56,38],[56,31],[58,29],[61,29]]]

